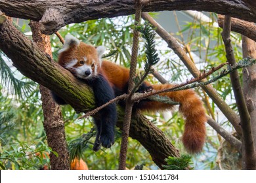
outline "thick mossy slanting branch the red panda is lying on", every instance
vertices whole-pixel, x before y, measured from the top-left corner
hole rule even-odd
[[[38,46],[20,33],[1,12],[0,49],[12,59],[18,71],[53,90],[66,99],[75,110],[88,112],[95,108],[93,91],[55,63],[51,57],[41,52]],[[123,110],[119,109],[117,122],[119,127],[122,127],[123,115]],[[58,126],[58,123],[51,125]],[[141,114],[133,116],[129,135],[150,152],[152,159],[159,167],[165,164],[164,158],[179,157],[179,151],[173,147],[160,129],[148,122]]]

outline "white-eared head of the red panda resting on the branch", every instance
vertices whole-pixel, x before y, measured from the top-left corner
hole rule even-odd
[[[78,78],[89,79],[98,74],[104,51],[104,46],[95,48],[66,35],[64,46],[58,51],[58,63]]]

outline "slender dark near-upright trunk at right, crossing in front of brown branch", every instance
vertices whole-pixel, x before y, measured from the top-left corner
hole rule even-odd
[[[230,65],[235,65],[236,60],[234,58],[233,48],[231,45],[230,39],[230,29],[231,29],[231,17],[225,16],[224,24],[223,24],[223,32],[221,35],[223,36],[223,42],[226,48],[226,59]],[[251,134],[251,124],[250,124],[250,115],[247,110],[247,106],[245,104],[244,93],[242,92],[242,88],[239,81],[238,71],[234,71],[230,73],[230,80],[234,92],[234,96],[236,99],[236,105],[238,107],[238,112],[240,114],[240,122],[242,126],[242,134],[244,141],[244,161],[245,161],[245,169],[256,169],[256,161],[255,161],[255,149],[253,144],[253,137]],[[252,161],[254,160],[254,161]]]

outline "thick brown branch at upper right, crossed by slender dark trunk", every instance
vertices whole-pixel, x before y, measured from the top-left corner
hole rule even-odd
[[[218,24],[223,28],[224,16],[218,14]],[[246,37],[256,41],[256,25],[252,22],[231,18],[231,31],[245,35]]]

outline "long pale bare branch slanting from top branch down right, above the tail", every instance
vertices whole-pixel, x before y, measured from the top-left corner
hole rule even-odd
[[[165,40],[175,54],[179,56],[181,61],[186,65],[190,73],[196,78],[200,76],[200,71],[196,67],[196,65],[191,61],[191,59],[187,56],[186,52],[182,49],[182,47],[178,44],[176,41],[175,37],[171,36],[163,27],[161,27],[158,22],[156,22],[148,13],[143,12],[142,13],[142,18],[144,20],[148,20],[150,24],[154,25],[156,27],[156,33],[160,35],[160,37]],[[205,81],[202,80],[202,81]],[[214,103],[220,108],[220,110],[223,112],[223,114],[228,118],[230,123],[234,126],[238,134],[242,135],[242,129],[241,126],[239,125],[240,123],[240,118],[239,116],[232,110],[226,103],[225,101],[220,97],[220,95],[217,93],[217,91],[211,86],[202,86],[203,90],[211,97],[211,99],[214,101]]]

